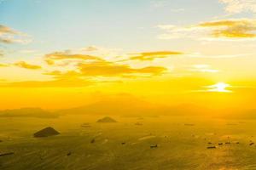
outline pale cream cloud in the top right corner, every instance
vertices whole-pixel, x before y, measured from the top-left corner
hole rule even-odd
[[[225,11],[230,14],[256,13],[256,0],[219,0],[219,2],[226,5]]]

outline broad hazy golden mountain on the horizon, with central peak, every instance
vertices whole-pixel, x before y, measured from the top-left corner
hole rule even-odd
[[[61,110],[61,114],[93,114],[119,116],[160,116],[160,115],[200,115],[206,108],[197,105],[183,104],[167,106],[153,104],[132,95],[109,97],[90,105]]]

